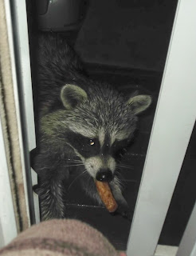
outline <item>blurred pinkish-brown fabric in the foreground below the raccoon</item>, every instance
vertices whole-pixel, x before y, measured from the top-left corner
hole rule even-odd
[[[117,256],[99,231],[77,220],[53,219],[31,226],[0,250],[0,255]]]

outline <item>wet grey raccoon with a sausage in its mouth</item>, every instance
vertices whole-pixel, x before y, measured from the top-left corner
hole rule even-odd
[[[151,105],[151,96],[127,98],[108,83],[88,78],[60,35],[41,35],[37,56],[38,154],[33,168],[41,219],[65,218],[63,182],[75,168],[89,197],[101,205],[95,180],[108,182],[118,211],[130,216],[117,156],[131,142],[137,115]]]

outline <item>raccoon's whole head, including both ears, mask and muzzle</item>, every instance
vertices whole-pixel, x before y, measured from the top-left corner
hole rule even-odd
[[[69,146],[92,178],[112,181],[116,154],[131,140],[136,115],[150,106],[151,97],[138,95],[125,100],[108,86],[84,91],[79,86],[65,85],[61,100],[69,113],[65,118]]]

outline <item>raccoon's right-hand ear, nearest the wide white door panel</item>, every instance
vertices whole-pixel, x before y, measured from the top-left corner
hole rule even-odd
[[[137,95],[129,98],[127,104],[131,106],[133,114],[139,114],[151,105],[151,101],[151,96],[149,95]]]

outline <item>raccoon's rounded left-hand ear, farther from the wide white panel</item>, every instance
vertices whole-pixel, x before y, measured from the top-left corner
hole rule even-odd
[[[79,86],[65,85],[61,89],[61,101],[66,109],[75,108],[80,102],[85,102],[88,96]]]

